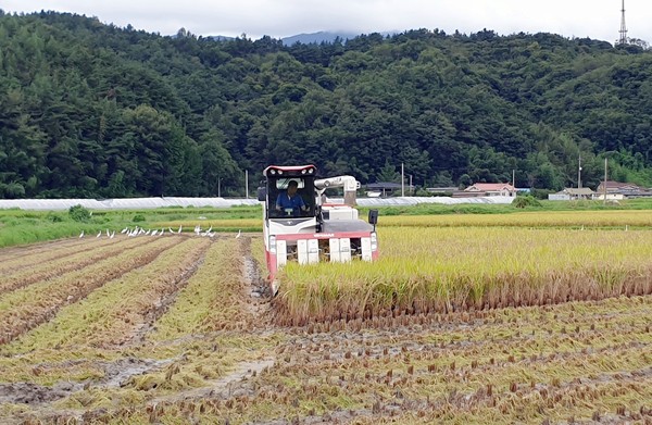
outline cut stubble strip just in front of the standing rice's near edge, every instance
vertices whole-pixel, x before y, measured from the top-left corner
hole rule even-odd
[[[437,322],[432,317],[406,317],[410,318],[408,325],[402,325],[399,318],[389,318],[381,328],[367,328],[365,333],[353,335],[348,334],[358,329],[348,323],[346,329],[311,334],[310,337],[297,332],[298,336],[289,338],[288,345],[276,352],[286,364],[316,364],[322,361],[321,368],[325,370],[339,368],[356,359],[391,359],[404,352],[415,352],[424,360],[438,359],[441,362],[456,355],[457,366],[480,360],[477,366],[489,363],[491,359],[491,363],[515,362],[532,357],[539,359],[584,350],[597,351],[614,345],[652,342],[647,321],[652,312],[650,303],[627,302],[629,299],[619,301],[630,307],[627,313],[613,315],[613,310],[609,309],[612,303],[600,302],[580,315],[555,313],[554,318],[544,315],[529,317],[522,313],[512,316],[513,320],[503,320],[497,311],[477,312],[471,317],[468,314],[455,314]],[[338,338],[340,333],[347,337]],[[300,350],[293,350],[293,347]]]

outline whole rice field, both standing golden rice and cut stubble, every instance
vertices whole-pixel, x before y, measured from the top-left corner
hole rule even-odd
[[[652,424],[650,216],[381,217],[275,298],[255,232],[2,248],[0,423]]]

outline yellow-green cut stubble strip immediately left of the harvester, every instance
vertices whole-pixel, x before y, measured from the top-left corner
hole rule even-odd
[[[215,385],[237,373],[240,362],[272,352],[278,337],[255,332],[256,317],[243,279],[248,237],[221,239],[206,252],[200,270],[156,322],[139,351],[148,358],[178,359],[170,367],[135,376],[124,387],[138,391],[189,390]],[[263,353],[259,350],[263,350]]]

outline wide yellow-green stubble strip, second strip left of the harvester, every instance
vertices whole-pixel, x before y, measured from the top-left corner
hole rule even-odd
[[[142,267],[105,283],[84,300],[59,311],[57,317],[8,347],[28,352],[54,347],[114,347],[125,343],[160,316],[168,298],[195,273],[211,243],[183,239]]]

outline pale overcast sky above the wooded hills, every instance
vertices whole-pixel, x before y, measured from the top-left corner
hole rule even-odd
[[[443,29],[448,34],[554,33],[614,42],[622,0],[0,0],[5,13],[53,10],[131,24],[161,35],[274,38],[319,30],[353,34]],[[628,36],[652,43],[652,1],[626,0]]]

